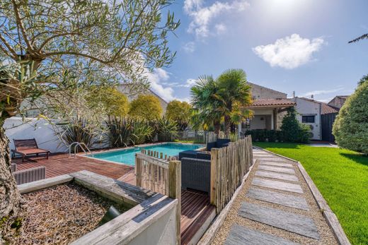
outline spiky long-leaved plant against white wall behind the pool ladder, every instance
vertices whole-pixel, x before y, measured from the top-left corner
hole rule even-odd
[[[97,132],[88,126],[86,119],[74,118],[67,125],[62,126],[62,131],[59,132],[59,135],[66,145],[79,142],[85,143],[88,148],[91,148],[96,143]],[[79,147],[77,150],[79,150]]]

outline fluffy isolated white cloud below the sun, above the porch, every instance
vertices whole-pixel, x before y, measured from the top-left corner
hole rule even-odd
[[[325,41],[321,37],[309,40],[298,34],[276,40],[274,44],[260,45],[253,52],[270,66],[292,69],[308,63],[312,55],[318,52]]]

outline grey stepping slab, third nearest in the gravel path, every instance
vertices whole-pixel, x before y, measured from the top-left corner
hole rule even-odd
[[[248,193],[246,193],[246,196],[260,201],[276,203],[290,208],[297,208],[309,211],[306,199],[300,196],[293,196],[275,191],[266,191],[255,187],[251,187]]]

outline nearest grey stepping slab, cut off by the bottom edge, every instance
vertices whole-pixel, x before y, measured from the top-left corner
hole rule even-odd
[[[275,237],[267,233],[257,232],[241,225],[233,225],[229,236],[226,238],[225,245],[296,245],[296,243]]]

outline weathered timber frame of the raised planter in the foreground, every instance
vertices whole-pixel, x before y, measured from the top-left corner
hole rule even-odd
[[[74,181],[130,210],[71,244],[176,244],[178,200],[86,170],[18,186],[21,193]]]

